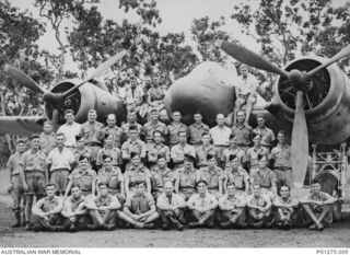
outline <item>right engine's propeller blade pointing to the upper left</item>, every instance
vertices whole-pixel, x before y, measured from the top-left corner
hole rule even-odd
[[[267,59],[262,58],[261,56],[257,55],[256,53],[243,46],[232,44],[229,42],[223,42],[223,40],[220,40],[217,44],[223,51],[229,54],[231,57],[240,60],[241,62],[244,62],[250,67],[262,69],[265,71],[273,72],[288,78],[287,71],[275,66],[273,63],[269,62]]]

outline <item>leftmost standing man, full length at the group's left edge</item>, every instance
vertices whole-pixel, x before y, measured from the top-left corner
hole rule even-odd
[[[12,228],[21,227],[21,202],[24,198],[24,192],[20,175],[20,162],[22,160],[23,153],[25,152],[25,140],[18,139],[15,141],[15,152],[10,157],[7,164],[7,170],[10,173],[10,183],[12,190],[12,210],[15,217],[15,222],[11,225]]]

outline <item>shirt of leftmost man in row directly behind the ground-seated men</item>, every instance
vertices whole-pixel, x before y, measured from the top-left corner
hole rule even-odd
[[[91,192],[92,184],[96,182],[96,172],[89,169],[83,172],[81,169],[75,169],[68,176],[68,179],[72,182],[73,185],[78,185],[82,192]]]

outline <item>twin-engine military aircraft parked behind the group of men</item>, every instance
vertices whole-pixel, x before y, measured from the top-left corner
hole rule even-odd
[[[281,69],[245,47],[218,42],[218,47],[248,66],[279,74],[273,84],[275,97],[266,102],[258,95],[252,113],[264,114],[268,123],[292,134],[292,171],[294,185],[301,187],[308,164],[308,142],[336,144],[350,137],[350,81],[334,62],[350,54],[350,46],[330,59],[304,57]],[[106,88],[89,81],[116,63],[126,55],[121,51],[102,63],[83,81],[58,82],[50,91],[43,90],[21,70],[7,65],[5,73],[20,84],[44,94],[45,115],[39,117],[0,117],[0,134],[30,135],[42,131],[49,119],[54,125],[63,123],[62,112],[72,108],[75,121],[86,121],[88,112],[96,109],[100,121],[114,113],[119,121],[125,119],[126,108]],[[164,102],[167,116],[180,111],[186,124],[200,111],[209,126],[215,125],[219,113],[229,116],[234,109],[235,86],[240,84],[235,73],[217,62],[202,62],[187,77],[176,80],[167,90]]]

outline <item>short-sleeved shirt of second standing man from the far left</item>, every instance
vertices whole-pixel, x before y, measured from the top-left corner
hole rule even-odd
[[[42,150],[38,150],[36,153],[33,153],[33,150],[28,150],[23,153],[20,166],[23,167],[25,172],[31,171],[42,171],[46,170],[46,153]]]

